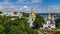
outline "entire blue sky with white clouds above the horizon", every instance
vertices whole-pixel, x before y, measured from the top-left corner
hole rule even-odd
[[[60,0],[0,0],[0,11],[60,13]]]

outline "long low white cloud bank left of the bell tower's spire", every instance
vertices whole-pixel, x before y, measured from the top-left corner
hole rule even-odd
[[[28,7],[28,6],[13,6],[13,5],[11,5],[11,6],[4,6],[4,7],[6,7],[4,10],[2,10],[4,12],[6,12],[6,11],[13,11],[13,12],[18,11],[18,12],[29,13],[31,11],[31,7]],[[3,7],[1,7],[1,9],[2,8]]]

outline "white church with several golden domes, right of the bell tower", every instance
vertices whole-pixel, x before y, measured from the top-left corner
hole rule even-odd
[[[55,28],[54,16],[52,16],[50,13],[48,14],[48,17],[45,18],[43,28]]]

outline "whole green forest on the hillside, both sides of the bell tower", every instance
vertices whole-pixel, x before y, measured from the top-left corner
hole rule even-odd
[[[35,27],[32,28],[29,26],[27,18],[0,16],[0,34],[38,34],[38,29],[41,27],[44,20],[38,14],[36,14],[36,16],[34,21]],[[28,17],[28,14],[23,14],[22,17]],[[11,18],[17,19],[11,20]],[[60,22],[60,19],[56,19],[56,22]],[[60,32],[56,32],[56,34],[58,33]]]

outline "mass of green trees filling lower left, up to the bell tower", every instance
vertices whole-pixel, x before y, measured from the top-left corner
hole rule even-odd
[[[13,17],[14,18],[14,17]],[[37,34],[35,29],[29,27],[26,18],[18,18],[10,20],[11,16],[0,18],[0,34]]]

